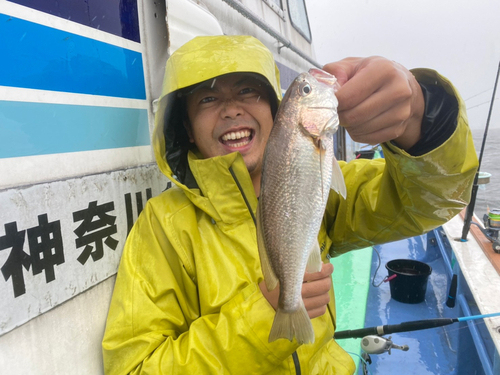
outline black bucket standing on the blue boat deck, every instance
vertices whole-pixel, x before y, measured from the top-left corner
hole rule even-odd
[[[395,259],[387,262],[385,268],[389,271],[392,298],[403,303],[424,301],[431,266],[417,260]]]

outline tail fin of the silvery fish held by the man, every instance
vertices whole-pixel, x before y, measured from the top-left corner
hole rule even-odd
[[[314,342],[314,330],[311,319],[309,319],[303,303],[301,303],[300,309],[293,312],[285,312],[278,307],[273,326],[271,327],[271,333],[269,334],[269,342],[280,338],[292,341],[294,337],[299,344]]]

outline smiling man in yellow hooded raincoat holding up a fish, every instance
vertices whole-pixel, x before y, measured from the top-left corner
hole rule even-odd
[[[470,199],[478,162],[464,104],[436,72],[380,57],[324,69],[342,85],[341,125],[383,143],[385,160],[340,162],[347,198],[330,194],[318,236],[325,265],[303,288],[315,342],[268,342],[276,293],[262,287],[252,216],[282,97],[273,56],[253,37],[198,37],[167,61],[153,145],[175,185],[148,201],[127,239],[106,374],[354,373],[333,339],[327,258],[445,223]]]

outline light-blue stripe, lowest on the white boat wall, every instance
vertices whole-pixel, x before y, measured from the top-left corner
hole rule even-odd
[[[0,158],[149,144],[146,109],[0,101]]]

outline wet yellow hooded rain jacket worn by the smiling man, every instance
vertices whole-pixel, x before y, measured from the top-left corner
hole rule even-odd
[[[355,371],[333,340],[333,290],[312,320],[313,344],[268,342],[275,312],[258,286],[252,181],[240,154],[201,159],[188,149],[178,101],[179,90],[230,72],[262,75],[281,99],[273,57],[251,37],[196,38],[167,63],[153,143],[175,186],[148,201],[125,245],[103,340],[108,375],[295,374],[294,361],[302,374]],[[470,198],[477,158],[463,103],[435,72],[414,74],[457,97],[457,128],[423,156],[386,144],[385,160],[341,162],[347,199],[330,196],[319,233],[325,261],[429,231]]]

